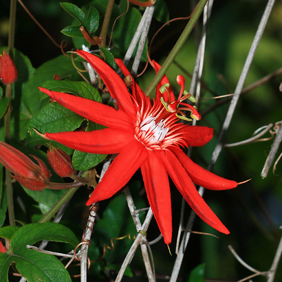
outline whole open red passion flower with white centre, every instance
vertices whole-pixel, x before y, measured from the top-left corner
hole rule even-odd
[[[194,107],[182,103],[184,78],[177,79],[182,90],[180,98],[175,101],[169,80],[164,76],[151,105],[149,97],[135,83],[121,60],[117,59],[116,63],[126,76],[125,80],[130,81],[127,85],[130,84],[131,93],[120,76],[105,61],[84,51],[78,50],[77,53],[96,70],[111,96],[118,102],[119,109],[40,88],[43,93],[67,109],[107,127],[89,132],[45,133],[43,136],[79,151],[118,153],[102,181],[94,189],[87,205],[113,196],[140,168],[149,204],[166,244],[171,243],[172,237],[169,177],[199,217],[213,228],[228,234],[228,229],[204,202],[193,182],[211,190],[235,188],[237,182],[206,171],[180,149],[203,146],[213,138],[213,129],[178,122],[180,116],[186,118],[183,110],[191,111],[192,118],[200,118]],[[154,67],[158,72],[160,66],[154,63]]]

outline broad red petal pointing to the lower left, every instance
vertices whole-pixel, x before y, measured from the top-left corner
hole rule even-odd
[[[147,160],[148,151],[144,145],[137,140],[127,144],[120,154],[113,160],[109,169],[102,177],[101,182],[94,189],[87,201],[87,206],[108,199],[116,194]]]

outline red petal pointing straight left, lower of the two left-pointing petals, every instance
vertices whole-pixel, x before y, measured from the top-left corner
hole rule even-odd
[[[133,134],[118,129],[45,133],[43,137],[78,151],[102,154],[120,153],[129,142],[135,140]]]

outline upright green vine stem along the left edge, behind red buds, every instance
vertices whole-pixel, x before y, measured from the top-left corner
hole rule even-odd
[[[9,23],[9,38],[8,38],[8,52],[9,55],[13,56],[14,50],[14,27],[16,24],[16,8],[17,0],[11,0],[10,3],[10,23]],[[9,98],[10,104],[4,118],[5,127],[5,142],[10,143],[10,120],[11,120],[11,98],[12,98],[12,85],[6,85],[6,97]],[[16,226],[14,220],[14,202],[13,202],[13,191],[12,191],[12,179],[11,173],[6,169],[6,188],[7,188],[7,199],[8,199],[8,214],[10,226]]]

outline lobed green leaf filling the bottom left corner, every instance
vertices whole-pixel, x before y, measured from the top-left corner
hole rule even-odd
[[[17,270],[28,281],[71,282],[69,273],[56,257],[26,248],[26,245],[42,240],[69,243],[72,246],[78,244],[72,230],[61,224],[50,222],[25,225],[14,232],[10,252],[0,254],[0,281],[8,282],[10,264],[15,262]]]

